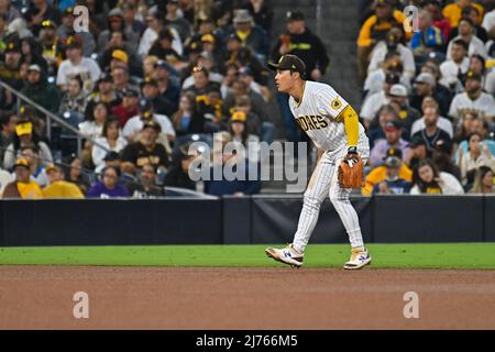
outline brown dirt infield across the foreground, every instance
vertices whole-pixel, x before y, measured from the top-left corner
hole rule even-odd
[[[495,271],[0,266],[0,329],[495,329]]]

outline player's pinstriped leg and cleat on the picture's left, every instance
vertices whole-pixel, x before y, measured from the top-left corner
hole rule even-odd
[[[321,202],[328,195],[332,165],[327,154],[319,160],[305,191],[302,210],[299,216],[294,241],[286,249],[266,249],[265,253],[274,260],[293,266],[301,266],[304,251],[315,229]]]

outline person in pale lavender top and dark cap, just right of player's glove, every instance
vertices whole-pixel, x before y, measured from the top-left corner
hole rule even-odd
[[[388,121],[384,131],[385,139],[376,141],[371,150],[370,164],[372,166],[381,165],[391,148],[395,151],[399,150],[400,154],[404,155],[404,158],[406,154],[409,153],[408,143],[400,138],[403,131],[400,130],[400,123],[398,121]]]

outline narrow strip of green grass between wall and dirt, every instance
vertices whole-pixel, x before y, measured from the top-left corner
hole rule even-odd
[[[280,267],[266,245],[0,248],[0,265],[132,265]],[[495,243],[369,244],[372,267],[495,268]],[[314,244],[307,267],[341,267],[346,244]]]

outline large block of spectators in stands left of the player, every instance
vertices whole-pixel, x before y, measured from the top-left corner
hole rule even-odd
[[[77,6],[89,11],[89,31],[77,30]],[[0,80],[85,136],[78,153],[74,135],[0,87],[0,193],[258,193],[260,182],[193,182],[188,146],[233,141],[255,154],[275,139],[272,22],[264,0],[0,0]]]

